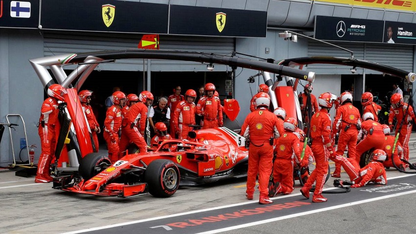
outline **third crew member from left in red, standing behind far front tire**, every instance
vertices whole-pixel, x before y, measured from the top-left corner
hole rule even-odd
[[[104,120],[104,140],[107,142],[108,157],[112,163],[118,160],[120,155],[120,148],[118,147],[118,131],[121,128],[121,109],[126,102],[126,95],[123,92],[116,91],[112,95],[113,105],[107,109],[107,114]]]

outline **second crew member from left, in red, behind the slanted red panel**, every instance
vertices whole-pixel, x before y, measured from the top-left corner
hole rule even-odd
[[[79,100],[81,101],[82,109],[84,110],[85,116],[87,117],[88,125],[90,125],[92,141],[94,142],[95,152],[98,152],[99,143],[97,134],[101,132],[100,125],[95,118],[94,113],[92,112],[92,107],[90,105],[92,91],[82,90],[78,93]]]

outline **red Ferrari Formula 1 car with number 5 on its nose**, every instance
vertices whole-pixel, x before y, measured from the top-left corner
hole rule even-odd
[[[131,197],[150,193],[173,195],[181,185],[198,185],[247,176],[245,138],[226,127],[197,130],[189,140],[165,140],[156,151],[129,154],[114,164],[107,155],[91,153],[79,173],[56,177],[53,188],[65,191]]]

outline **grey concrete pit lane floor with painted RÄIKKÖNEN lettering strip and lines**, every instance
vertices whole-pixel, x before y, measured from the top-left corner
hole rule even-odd
[[[413,163],[415,133],[410,141]],[[292,194],[259,205],[258,190],[253,201],[246,199],[245,178],[180,187],[169,198],[122,199],[55,190],[51,183],[35,184],[34,178],[3,170],[0,233],[415,233],[416,177],[386,171],[388,185],[324,194],[326,203],[305,199],[297,182]],[[348,179],[345,172],[341,176]],[[333,180],[325,189],[334,188]]]

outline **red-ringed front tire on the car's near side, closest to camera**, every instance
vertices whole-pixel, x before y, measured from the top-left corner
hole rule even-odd
[[[144,174],[148,191],[155,197],[170,197],[179,187],[179,168],[170,160],[158,159],[149,164]]]

